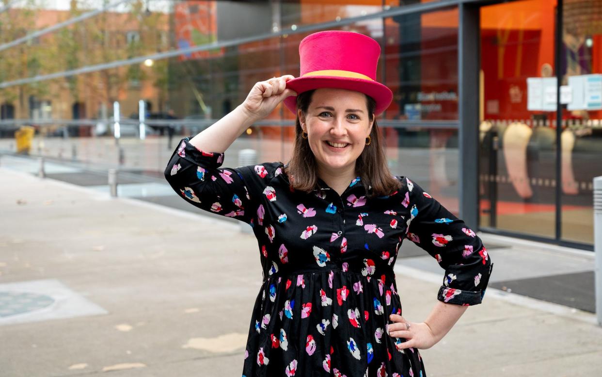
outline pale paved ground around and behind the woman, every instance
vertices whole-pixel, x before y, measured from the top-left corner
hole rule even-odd
[[[0,309],[12,310],[0,314],[2,376],[240,376],[261,267],[238,223],[4,167],[0,208]],[[517,267],[519,246],[489,238],[498,281],[533,278]],[[542,271],[591,264],[530,250]],[[397,285],[420,322],[442,270],[404,252]],[[602,328],[592,314],[489,288],[421,354],[431,377],[595,376]]]

